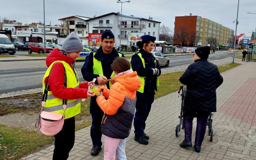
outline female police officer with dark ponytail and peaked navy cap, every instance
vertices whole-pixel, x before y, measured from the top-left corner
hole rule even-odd
[[[141,87],[136,92],[136,113],[134,116],[134,140],[140,144],[148,144],[148,135],[144,133],[146,120],[154,102],[155,91],[159,86],[158,76],[161,69],[155,57],[151,54],[154,49],[156,37],[145,35],[141,36],[142,41],[137,42],[140,51],[134,53],[131,58],[131,67],[141,80]]]

